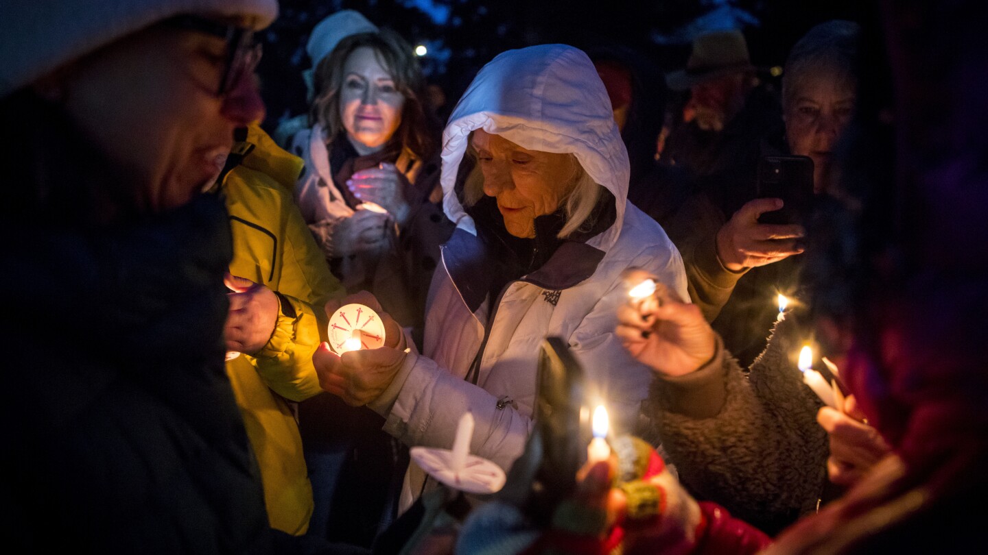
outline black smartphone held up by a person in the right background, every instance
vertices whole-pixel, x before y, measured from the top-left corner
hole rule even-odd
[[[813,203],[813,160],[808,156],[763,156],[758,163],[758,198],[782,198],[782,209],[759,223],[802,225]]]

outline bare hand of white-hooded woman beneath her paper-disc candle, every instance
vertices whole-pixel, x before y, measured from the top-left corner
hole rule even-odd
[[[312,355],[312,364],[323,390],[350,406],[361,407],[380,397],[391,385],[407,356],[404,351],[381,347],[348,351],[340,357],[330,351],[328,343],[323,343]]]

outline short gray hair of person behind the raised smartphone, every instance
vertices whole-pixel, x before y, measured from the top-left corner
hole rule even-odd
[[[805,79],[820,71],[835,72],[839,79],[855,83],[860,35],[860,25],[844,20],[828,21],[810,29],[792,46],[785,59],[782,106],[794,102]]]

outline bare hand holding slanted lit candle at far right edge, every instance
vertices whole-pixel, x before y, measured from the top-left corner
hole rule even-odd
[[[847,414],[823,407],[817,413],[816,421],[830,439],[830,458],[827,459],[830,481],[852,486],[888,454],[890,448],[874,428],[864,424],[864,414],[858,409],[854,395],[845,399],[844,407]]]

